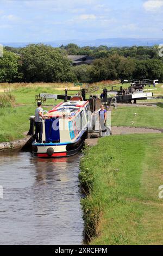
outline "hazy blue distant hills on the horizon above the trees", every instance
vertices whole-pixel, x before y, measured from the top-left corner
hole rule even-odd
[[[4,46],[11,47],[25,47],[28,44],[37,44],[39,42],[1,42]],[[51,45],[53,47],[59,47],[61,45],[67,45],[70,43],[77,44],[80,47],[83,46],[100,46],[106,45],[108,47],[123,47],[123,46],[153,46],[163,44],[163,38],[106,38],[96,40],[56,40],[49,42],[42,42],[43,44]]]

